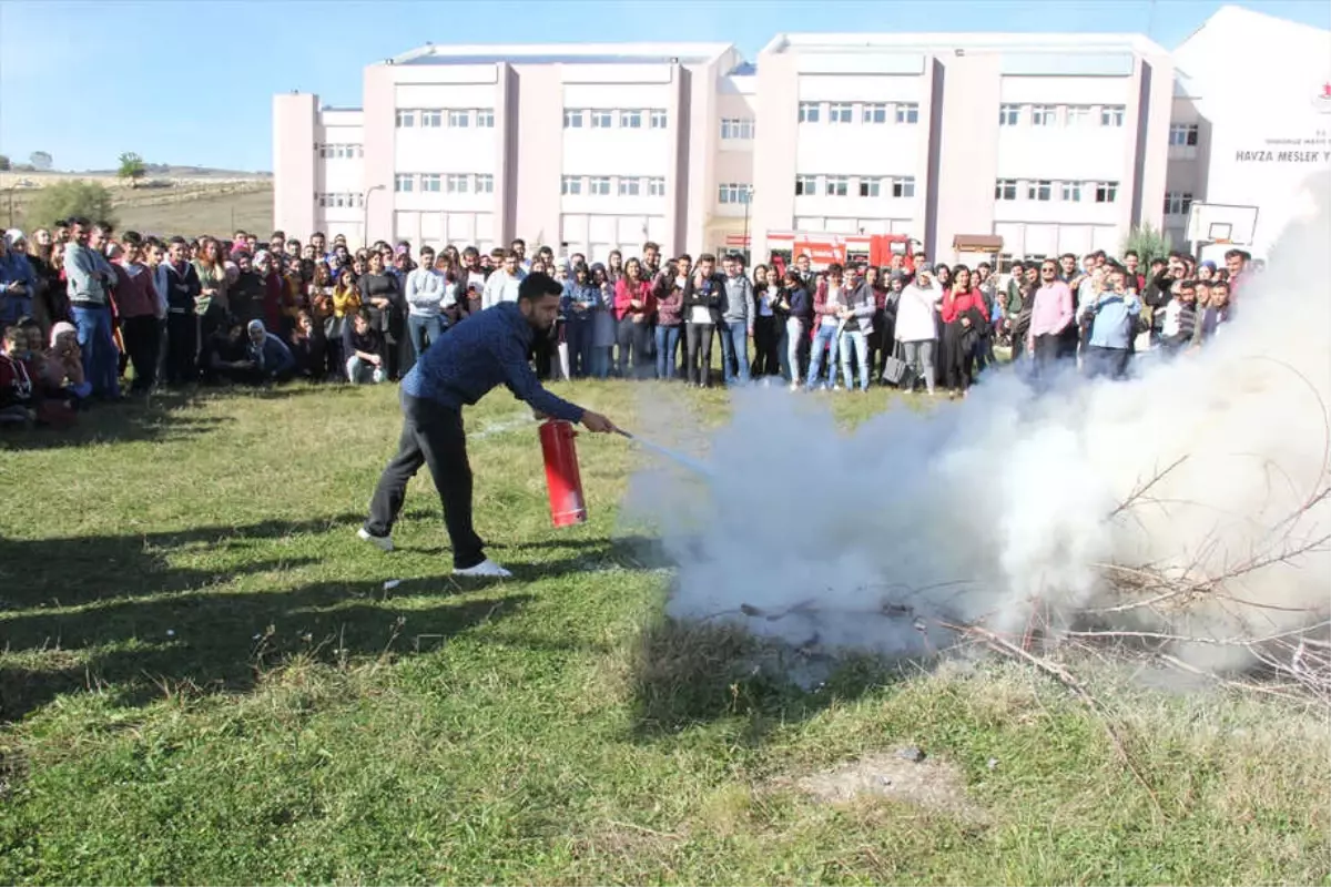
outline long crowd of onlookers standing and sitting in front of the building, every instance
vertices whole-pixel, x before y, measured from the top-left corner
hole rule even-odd
[[[748,269],[739,254],[664,258],[652,242],[600,263],[548,246],[528,257],[520,239],[488,253],[383,241],[353,251],[322,233],[186,241],[72,218],[31,241],[0,238],[0,424],[68,424],[126,388],[393,382],[454,326],[516,301],[531,273],[563,286],[559,323],[531,355],[542,379],[964,396],[1009,348],[1037,379],[1055,364],[1123,378],[1143,348],[1173,355],[1217,335],[1254,270],[1236,249],[1225,267],[1097,251],[1005,274],[922,253],[886,267],[815,270],[799,255]]]

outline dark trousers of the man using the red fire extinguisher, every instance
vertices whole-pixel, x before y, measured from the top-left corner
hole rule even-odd
[[[467,435],[462,412],[433,400],[402,395],[402,436],[398,455],[379,476],[370,500],[365,531],[387,536],[402,513],[407,481],[421,465],[430,468],[434,488],[443,503],[443,525],[453,540],[453,565],[475,567],[486,559],[484,543],[471,525],[471,465],[467,463]]]

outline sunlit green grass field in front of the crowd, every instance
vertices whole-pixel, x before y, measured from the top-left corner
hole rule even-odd
[[[1324,721],[1083,664],[1129,767],[1012,664],[796,690],[663,618],[626,442],[579,439],[591,521],[548,527],[506,394],[469,431],[516,578],[458,584],[425,475],[398,552],[353,539],[397,416],[290,387],[0,440],[0,882],[1331,883]]]

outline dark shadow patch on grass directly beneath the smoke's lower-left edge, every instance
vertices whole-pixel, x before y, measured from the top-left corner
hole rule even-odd
[[[740,741],[901,680],[900,664],[833,660],[761,640],[736,625],[662,618],[643,629],[630,670],[632,738],[655,742],[688,727],[741,718]]]

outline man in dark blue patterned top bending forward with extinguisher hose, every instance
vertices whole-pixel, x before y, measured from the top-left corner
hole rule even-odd
[[[402,379],[402,435],[398,453],[383,469],[370,501],[370,515],[357,536],[393,551],[393,524],[402,512],[407,481],[429,465],[443,503],[443,523],[453,541],[455,576],[512,576],[484,553],[471,525],[471,465],[462,407],[475,404],[500,383],[538,416],[582,423],[588,431],[615,431],[596,412],[571,404],[540,387],[527,363],[531,343],[548,335],[559,315],[563,287],[547,274],[528,274],[516,302],[499,302],[442,336]]]

